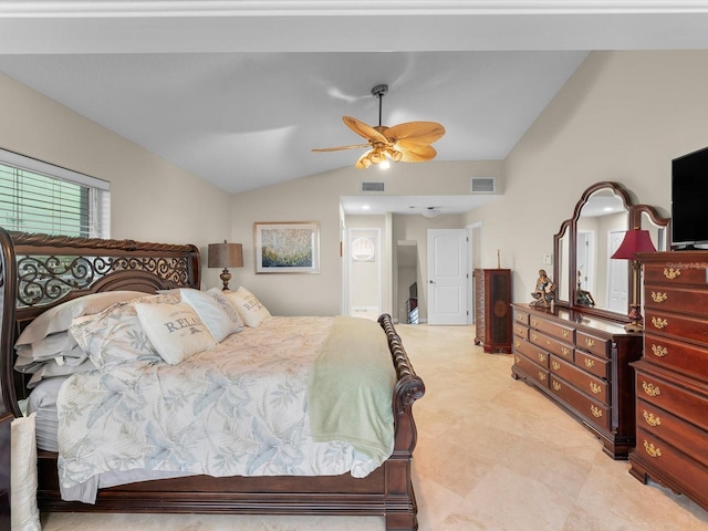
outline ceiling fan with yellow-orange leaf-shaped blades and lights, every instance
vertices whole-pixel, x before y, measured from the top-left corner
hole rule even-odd
[[[369,149],[356,160],[355,167],[358,169],[368,168],[372,164],[388,164],[389,159],[395,163],[424,163],[434,159],[437,152],[430,144],[445,134],[445,127],[435,122],[406,122],[393,127],[381,125],[382,100],[387,92],[388,85],[376,85],[372,88],[372,95],[378,97],[377,126],[372,127],[352,116],[342,117],[350,129],[368,140],[367,144],[322,147],[312,150],[337,152],[368,147]]]

